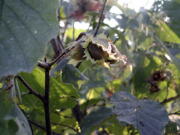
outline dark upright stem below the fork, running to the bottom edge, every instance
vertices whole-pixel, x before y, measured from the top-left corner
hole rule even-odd
[[[44,113],[46,122],[46,133],[51,135],[51,120],[49,111],[49,92],[50,92],[50,67],[45,69],[45,96],[44,96]]]

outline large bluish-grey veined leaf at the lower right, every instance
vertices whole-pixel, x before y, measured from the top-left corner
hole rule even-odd
[[[118,92],[111,98],[113,113],[121,122],[132,124],[142,135],[161,135],[168,123],[166,110],[157,102],[138,100],[127,92]]]

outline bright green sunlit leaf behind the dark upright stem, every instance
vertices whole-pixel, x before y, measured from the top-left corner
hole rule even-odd
[[[40,68],[35,68],[32,73],[21,73],[20,75],[31,88],[39,93],[44,92],[44,72]],[[63,83],[60,78],[51,77],[50,86],[51,109],[68,108],[77,104],[76,98],[79,97],[79,93],[72,84]],[[19,88],[22,92],[27,91],[20,82]],[[41,102],[33,95],[23,96],[23,105],[29,107],[28,111],[32,110],[31,113],[42,112]],[[34,117],[37,117],[37,115]]]

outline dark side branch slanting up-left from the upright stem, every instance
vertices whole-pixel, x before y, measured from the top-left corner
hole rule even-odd
[[[18,79],[28,90],[30,94],[33,94],[37,98],[39,98],[41,101],[44,100],[44,97],[39,94],[37,91],[31,88],[31,86],[19,75],[15,76],[15,79]]]

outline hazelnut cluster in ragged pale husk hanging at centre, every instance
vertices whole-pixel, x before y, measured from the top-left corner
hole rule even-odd
[[[71,52],[71,58],[76,61],[87,59],[92,63],[98,63],[106,67],[120,61],[124,65],[127,63],[127,57],[122,55],[105,35],[93,37],[92,35],[84,34],[75,42],[74,45],[76,46]]]

